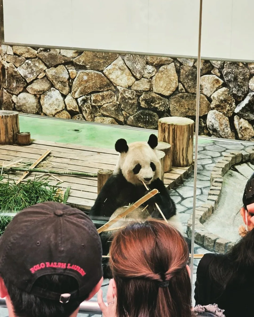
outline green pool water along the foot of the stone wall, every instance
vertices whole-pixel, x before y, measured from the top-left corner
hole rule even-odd
[[[21,132],[30,132],[32,139],[73,143],[83,146],[94,146],[114,149],[117,139],[124,138],[127,143],[147,141],[149,135],[157,130],[113,126],[86,121],[53,119],[42,116],[19,115]],[[199,139],[198,143],[211,142]]]

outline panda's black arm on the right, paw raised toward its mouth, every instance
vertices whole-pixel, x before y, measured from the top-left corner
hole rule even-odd
[[[176,206],[163,182],[157,178],[149,185],[149,187],[150,189],[156,188],[159,191],[159,193],[153,197],[154,199],[152,198],[153,201],[151,202],[158,204],[167,219],[174,216],[176,214]],[[150,202],[150,199],[148,202]]]

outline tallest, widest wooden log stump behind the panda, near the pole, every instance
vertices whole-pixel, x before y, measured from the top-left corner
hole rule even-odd
[[[194,121],[182,117],[158,121],[158,141],[171,145],[171,166],[186,167],[193,163]]]

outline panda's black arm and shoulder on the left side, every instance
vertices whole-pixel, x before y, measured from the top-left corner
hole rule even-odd
[[[101,189],[89,215],[110,217],[117,208],[121,207],[121,202],[116,199],[116,197],[119,197],[121,188],[121,185],[119,186],[119,176],[112,175]]]

